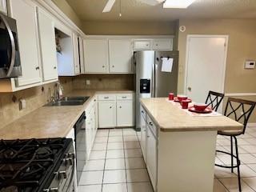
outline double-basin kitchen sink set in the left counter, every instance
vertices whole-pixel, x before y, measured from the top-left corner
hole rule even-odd
[[[46,106],[82,106],[90,97],[64,97],[56,102],[49,102]]]

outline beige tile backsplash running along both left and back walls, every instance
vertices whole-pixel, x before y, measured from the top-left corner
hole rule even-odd
[[[59,82],[63,86],[64,94],[73,89],[134,90],[133,77],[132,74],[86,74],[75,78],[60,77]],[[90,86],[86,86],[86,80],[90,80]],[[53,93],[54,82],[14,93],[0,94],[0,129],[50,102],[50,95]],[[26,100],[26,109],[19,110],[20,99]]]

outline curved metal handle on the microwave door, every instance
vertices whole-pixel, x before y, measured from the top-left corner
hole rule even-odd
[[[11,72],[14,70],[14,62],[16,57],[16,50],[15,50],[15,41],[14,41],[14,34],[10,30],[10,26],[8,22],[6,21],[6,18],[0,14],[0,18],[2,19],[2,22],[6,26],[6,29],[8,31],[9,37],[10,37],[10,44],[11,44],[11,59],[10,59],[10,67],[6,74],[6,77],[10,77]]]

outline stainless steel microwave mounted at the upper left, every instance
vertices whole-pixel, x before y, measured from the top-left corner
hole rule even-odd
[[[22,75],[16,20],[0,14],[0,78]]]

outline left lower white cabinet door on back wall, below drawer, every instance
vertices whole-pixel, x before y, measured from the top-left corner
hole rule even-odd
[[[98,102],[98,127],[107,128],[116,126],[116,102]]]

